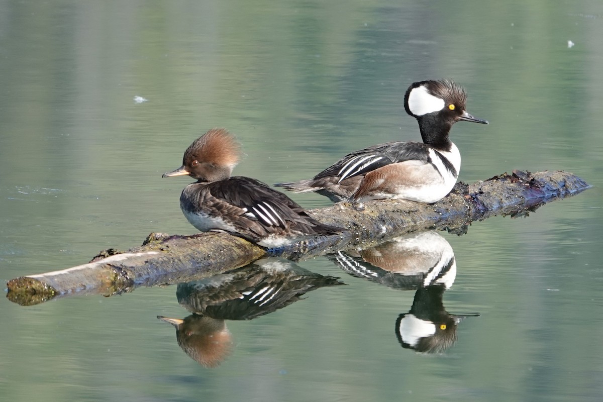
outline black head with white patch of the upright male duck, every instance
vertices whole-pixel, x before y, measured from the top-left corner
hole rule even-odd
[[[467,92],[452,80],[419,81],[411,84],[404,96],[406,113],[417,119],[426,143],[447,137],[458,121],[488,124],[467,113]]]

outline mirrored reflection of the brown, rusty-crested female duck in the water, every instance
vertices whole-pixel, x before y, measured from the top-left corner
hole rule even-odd
[[[282,309],[309,291],[344,284],[291,262],[263,259],[203,280],[178,284],[178,303],[192,312],[185,319],[157,316],[176,328],[178,345],[206,367],[221,363],[232,349],[225,319],[242,320]]]

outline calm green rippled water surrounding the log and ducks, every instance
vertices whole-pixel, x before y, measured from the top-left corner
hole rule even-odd
[[[441,233],[457,263],[443,307],[480,313],[443,353],[397,339],[415,291],[324,257],[297,266],[349,286],[226,321],[232,350],[211,369],[156,318],[189,315],[175,286],[2,299],[0,400],[600,400],[601,37],[598,0],[0,2],[2,281],[151,231],[194,233],[178,207],[188,181],[161,174],[209,128],[236,133],[248,155],[236,172],[268,183],[416,140],[403,93],[428,78],[463,84],[469,112],[491,123],[453,128],[462,180],[564,169],[594,186],[528,218]]]

